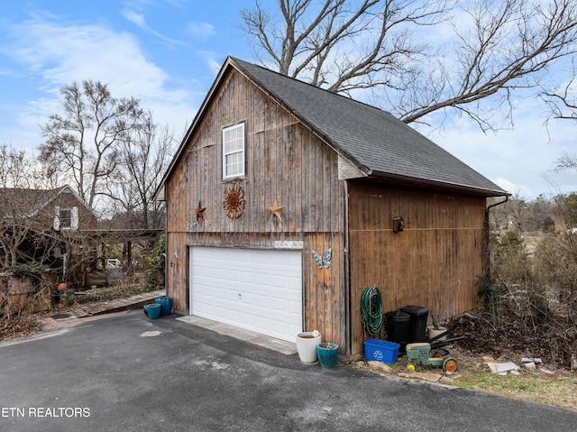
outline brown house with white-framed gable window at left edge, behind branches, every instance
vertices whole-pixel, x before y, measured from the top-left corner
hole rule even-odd
[[[0,310],[23,308],[39,289],[33,308],[50,308],[50,286],[14,276],[14,267],[52,269],[59,280],[66,278],[60,271],[69,271],[73,256],[84,252],[83,230],[96,229],[96,222],[94,211],[69,186],[0,188]]]

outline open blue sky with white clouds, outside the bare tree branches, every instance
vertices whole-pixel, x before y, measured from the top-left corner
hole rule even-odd
[[[102,81],[114,97],[139,98],[181,136],[226,56],[254,61],[238,29],[240,10],[253,1],[3,2],[0,144],[36,148],[41,124],[60,112],[60,86],[84,79]],[[575,154],[577,124],[547,130],[537,100],[515,103],[510,130],[484,134],[460,118],[419,131],[521,198],[577,191],[577,173],[551,172],[563,152]]]

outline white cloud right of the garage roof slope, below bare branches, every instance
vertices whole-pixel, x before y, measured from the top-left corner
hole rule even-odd
[[[447,152],[510,193],[536,198],[577,189],[577,175],[554,173],[563,152],[574,152],[575,124],[556,121],[547,128],[543,106],[531,99],[519,104],[514,128],[482,133],[466,117],[451,118],[443,130],[417,127]]]

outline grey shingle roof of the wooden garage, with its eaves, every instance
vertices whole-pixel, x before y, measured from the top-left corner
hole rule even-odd
[[[386,111],[231,57],[224,62],[173,163],[229,68],[241,72],[369,178],[459,189],[488,197],[508,195]]]

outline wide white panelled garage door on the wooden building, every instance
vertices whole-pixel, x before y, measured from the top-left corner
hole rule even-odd
[[[190,311],[294,342],[302,331],[301,251],[193,246]]]

